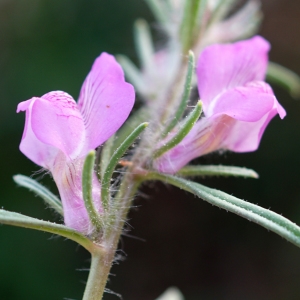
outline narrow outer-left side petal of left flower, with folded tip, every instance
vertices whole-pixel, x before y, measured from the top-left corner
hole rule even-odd
[[[17,112],[26,111],[26,121],[22,141],[20,143],[20,150],[37,165],[49,169],[49,166],[53,164],[58,150],[42,143],[32,130],[32,106],[38,99],[39,98],[32,98],[18,105]]]

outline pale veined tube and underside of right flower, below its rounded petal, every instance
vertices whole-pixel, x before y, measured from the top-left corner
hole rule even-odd
[[[213,151],[255,151],[264,130],[277,113],[281,118],[285,116],[284,109],[273,97],[271,109],[256,121],[240,121],[226,114],[204,117],[177,146],[154,161],[154,168],[174,174],[194,158]]]

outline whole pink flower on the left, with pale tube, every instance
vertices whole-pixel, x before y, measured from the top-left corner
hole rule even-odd
[[[119,129],[134,98],[119,64],[102,53],[82,85],[77,104],[69,94],[55,91],[18,105],[17,112],[26,111],[20,150],[50,170],[61,196],[65,224],[84,234],[93,229],[82,198],[84,158]],[[96,174],[93,180],[94,205],[101,213]]]

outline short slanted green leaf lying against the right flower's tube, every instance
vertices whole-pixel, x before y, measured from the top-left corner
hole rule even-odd
[[[195,122],[199,119],[201,112],[202,102],[199,101],[196,107],[193,109],[193,111],[187,116],[186,120],[181,125],[181,128],[179,128],[178,132],[166,144],[164,144],[161,148],[157,149],[154,152],[154,159],[158,158],[168,150],[178,145],[184,139],[184,137],[191,131]]]

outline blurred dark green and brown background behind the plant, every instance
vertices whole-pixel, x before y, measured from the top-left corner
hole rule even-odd
[[[300,74],[300,2],[263,1],[260,34],[270,58]],[[57,216],[12,181],[34,175],[55,191],[19,150],[19,102],[52,90],[76,99],[95,57],[136,61],[132,25],[153,16],[143,0],[0,0],[0,206],[44,220]],[[161,43],[163,37],[156,34]],[[246,166],[259,180],[200,179],[300,224],[300,102],[276,88],[287,117],[267,128],[255,153],[212,154],[201,163]],[[148,184],[130,213],[129,235],[108,288],[125,300],[153,300],[175,285],[187,300],[300,299],[300,249],[259,226],[163,184]],[[147,195],[147,196],[145,196]],[[0,299],[81,299],[89,254],[50,234],[0,226]],[[118,299],[106,294],[105,299]]]

